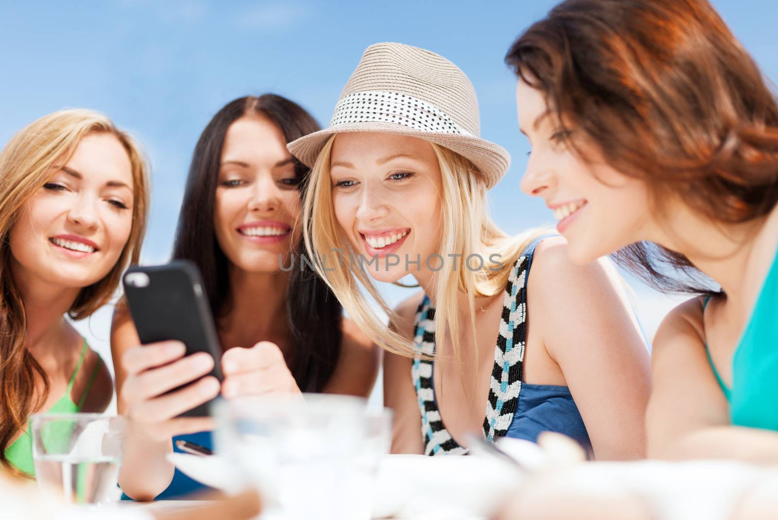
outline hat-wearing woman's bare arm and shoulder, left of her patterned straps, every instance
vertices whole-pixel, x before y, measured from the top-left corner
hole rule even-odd
[[[422,297],[422,294],[414,295],[394,309],[397,320],[390,326],[408,340],[413,337],[413,319]],[[384,352],[384,406],[394,412],[392,453],[424,453],[422,417],[411,378],[412,363],[410,358]]]

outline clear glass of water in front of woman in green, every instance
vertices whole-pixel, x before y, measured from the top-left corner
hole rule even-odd
[[[41,489],[75,504],[117,500],[124,419],[101,414],[33,414],[33,460]]]

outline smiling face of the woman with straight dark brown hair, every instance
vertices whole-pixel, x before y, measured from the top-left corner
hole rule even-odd
[[[300,192],[281,128],[263,114],[227,130],[216,188],[214,225],[230,262],[247,272],[277,272],[279,253],[300,243]],[[285,260],[284,265],[288,265]]]

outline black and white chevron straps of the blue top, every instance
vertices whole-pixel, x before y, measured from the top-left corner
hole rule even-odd
[[[483,423],[484,436],[489,441],[506,434],[517,410],[526,339],[527,264],[527,256],[513,264],[505,288]],[[426,296],[416,310],[414,342],[419,351],[435,353],[435,309]],[[468,450],[451,437],[440,417],[433,388],[433,361],[414,359],[411,375],[422,417],[425,455],[467,454]]]

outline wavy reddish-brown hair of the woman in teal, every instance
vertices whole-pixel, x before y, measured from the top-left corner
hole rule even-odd
[[[713,222],[755,221],[778,202],[778,103],[706,0],[567,0],[527,29],[506,63],[605,162]],[[567,132],[563,132],[566,134]],[[576,153],[576,139],[567,144]],[[680,253],[615,253],[654,288],[711,292]]]

